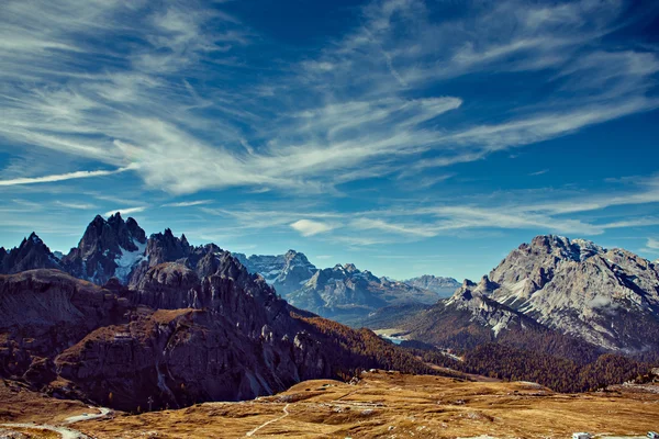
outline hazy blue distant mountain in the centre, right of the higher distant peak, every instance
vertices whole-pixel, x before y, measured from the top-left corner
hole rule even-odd
[[[378,278],[346,263],[316,271],[288,299],[294,306],[347,323],[388,305],[434,303],[437,294]]]

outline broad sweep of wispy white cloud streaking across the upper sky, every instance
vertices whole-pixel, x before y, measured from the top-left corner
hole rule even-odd
[[[289,66],[287,77],[268,78],[266,87],[244,76],[253,82],[245,89],[255,90],[245,94],[203,86],[205,69],[197,68],[233,63],[258,40],[215,8],[11,1],[0,46],[8,78],[0,135],[64,153],[63,160],[133,164],[148,188],[175,194],[228,187],[337,194],[336,184],[401,172],[411,160],[420,169],[480,160],[657,108],[646,94],[659,69],[654,53],[590,48],[622,10],[617,1],[521,8],[509,0],[434,22],[421,0],[373,1],[362,25]],[[88,35],[142,44],[122,55]],[[99,56],[115,61],[90,72]],[[549,85],[571,98],[505,109],[506,120],[471,126],[443,126],[445,115],[465,108],[460,97],[409,98],[457,76],[526,70],[555,72]],[[15,81],[25,77],[31,81]],[[257,95],[269,99],[257,106]],[[414,160],[423,154],[431,157]]]

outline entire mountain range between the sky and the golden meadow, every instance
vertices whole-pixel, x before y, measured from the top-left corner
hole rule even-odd
[[[641,373],[659,352],[657,263],[552,235],[439,300],[431,289],[454,280],[317,269],[293,250],[247,258],[169,228],[147,237],[120,214],[97,216],[68,255],[33,233],[0,248],[0,375],[131,410],[252,398],[369,368],[450,368],[571,392]],[[406,341],[313,313],[395,328]]]

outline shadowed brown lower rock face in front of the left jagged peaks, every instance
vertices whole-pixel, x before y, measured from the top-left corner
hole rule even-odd
[[[101,404],[253,398],[332,372],[288,304],[233,259],[201,280],[156,266],[138,291],[27,271],[0,277],[0,294],[2,375]]]

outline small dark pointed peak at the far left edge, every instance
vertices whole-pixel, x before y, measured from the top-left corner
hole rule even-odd
[[[62,269],[62,263],[34,232],[10,251],[0,248],[0,273],[19,273],[37,268]]]

